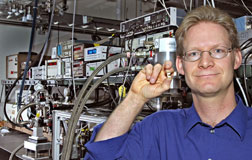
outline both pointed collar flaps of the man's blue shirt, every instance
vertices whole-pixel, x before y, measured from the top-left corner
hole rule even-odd
[[[224,119],[221,123],[219,123],[216,127],[221,126],[222,124],[228,124],[234,131],[240,136],[241,140],[243,140],[246,132],[247,125],[247,107],[243,104],[242,99],[236,95],[237,106],[231,112],[231,114]],[[185,109],[185,135],[197,124],[202,123],[194,104],[188,109]]]

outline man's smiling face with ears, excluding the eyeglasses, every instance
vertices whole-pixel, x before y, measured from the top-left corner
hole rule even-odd
[[[209,51],[223,46],[231,48],[227,30],[219,24],[200,22],[191,27],[184,39],[184,51]],[[201,96],[226,94],[233,89],[234,69],[241,64],[241,53],[237,49],[222,59],[212,58],[203,52],[201,58],[194,62],[177,58],[177,70],[185,75],[187,85],[192,93]]]

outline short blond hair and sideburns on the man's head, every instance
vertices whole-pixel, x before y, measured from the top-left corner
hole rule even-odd
[[[186,32],[192,26],[200,22],[212,22],[223,26],[229,33],[229,40],[232,44],[232,48],[239,48],[237,30],[232,18],[227,13],[217,8],[212,8],[210,6],[201,6],[192,10],[185,16],[183,22],[175,33],[177,43],[177,56],[183,56],[183,41]]]

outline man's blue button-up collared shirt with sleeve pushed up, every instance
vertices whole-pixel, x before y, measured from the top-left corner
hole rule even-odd
[[[214,128],[194,105],[165,110],[136,123],[126,134],[86,144],[88,160],[252,160],[252,109],[239,96],[232,113]]]

